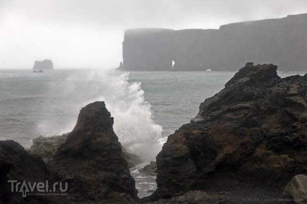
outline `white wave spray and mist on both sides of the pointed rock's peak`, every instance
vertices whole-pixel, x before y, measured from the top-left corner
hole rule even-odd
[[[128,82],[129,73],[110,70],[92,70],[74,73],[65,80],[52,83],[50,95],[66,101],[61,110],[66,113],[60,127],[52,115],[38,124],[44,135],[71,131],[79,110],[94,101],[104,101],[114,118],[113,129],[122,146],[145,160],[154,160],[162,146],[162,127],[153,122],[151,105],[144,98],[140,82]],[[50,109],[44,107],[43,109]],[[56,107],[53,107],[57,111]],[[51,112],[51,111],[48,111]],[[51,112],[52,113],[52,112]]]

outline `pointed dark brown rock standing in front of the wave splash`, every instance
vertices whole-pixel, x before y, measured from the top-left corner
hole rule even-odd
[[[73,202],[123,202],[137,198],[135,181],[104,102],[82,108],[75,128],[58,148],[51,169],[68,181]]]

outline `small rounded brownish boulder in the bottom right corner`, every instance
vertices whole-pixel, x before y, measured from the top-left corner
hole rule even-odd
[[[303,174],[294,176],[285,188],[284,194],[293,198],[296,204],[306,204],[307,176]]]

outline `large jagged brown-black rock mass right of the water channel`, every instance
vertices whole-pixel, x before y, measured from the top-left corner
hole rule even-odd
[[[153,200],[229,179],[281,193],[294,175],[307,173],[307,74],[280,79],[276,69],[247,63],[168,136],[156,157]]]

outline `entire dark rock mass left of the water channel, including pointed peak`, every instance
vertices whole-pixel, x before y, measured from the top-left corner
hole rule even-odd
[[[87,105],[81,109],[77,124],[68,135],[39,137],[34,141],[30,152],[41,153],[47,159],[51,159],[56,149],[47,165],[18,143],[0,141],[0,202],[136,203],[135,181],[112,126],[113,118],[104,102]],[[7,180],[43,183],[48,180],[51,186],[54,182],[67,182],[67,195],[23,198],[21,192],[11,193]]]

